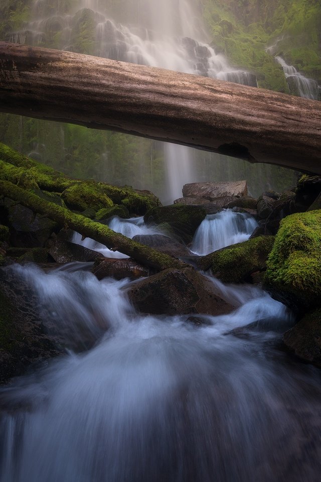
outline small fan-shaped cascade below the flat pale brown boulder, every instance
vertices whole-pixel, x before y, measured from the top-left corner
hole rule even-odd
[[[257,225],[254,217],[232,209],[208,214],[194,235],[191,251],[205,256],[225,246],[241,243],[250,237]]]

